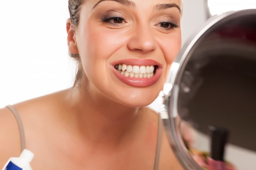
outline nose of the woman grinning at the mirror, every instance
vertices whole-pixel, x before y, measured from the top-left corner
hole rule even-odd
[[[137,25],[131,33],[131,37],[128,41],[127,47],[132,51],[140,51],[142,53],[148,53],[154,51],[157,48],[156,40],[150,28],[147,24]]]

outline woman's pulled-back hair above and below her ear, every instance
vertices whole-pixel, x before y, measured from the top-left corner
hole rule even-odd
[[[68,10],[70,15],[70,20],[72,26],[76,29],[79,21],[80,21],[80,9],[82,4],[84,3],[84,0],[68,0]],[[78,63],[78,68],[76,71],[76,79],[74,86],[81,80],[83,75],[83,67],[81,64],[80,56],[79,54],[73,54],[69,51],[69,55],[74,58]]]

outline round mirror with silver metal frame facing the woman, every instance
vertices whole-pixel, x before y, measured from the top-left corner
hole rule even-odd
[[[256,167],[256,9],[209,21],[169,76],[160,114],[183,167]]]

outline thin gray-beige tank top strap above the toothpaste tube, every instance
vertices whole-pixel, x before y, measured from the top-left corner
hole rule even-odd
[[[23,128],[20,116],[19,116],[17,110],[12,105],[8,105],[6,107],[12,111],[12,113],[15,116],[16,121],[18,123],[19,129],[20,129],[20,142],[21,142],[21,152],[22,152],[24,149],[26,149],[26,144],[25,144],[24,128]]]

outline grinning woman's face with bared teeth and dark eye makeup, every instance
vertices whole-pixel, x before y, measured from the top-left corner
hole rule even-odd
[[[75,39],[90,93],[130,107],[153,102],[180,50],[180,5],[85,0]]]

